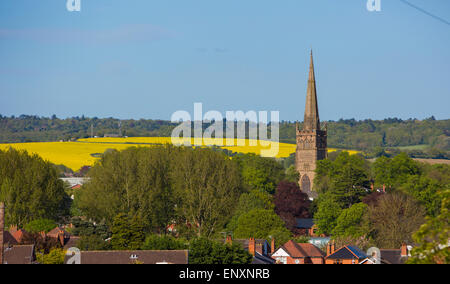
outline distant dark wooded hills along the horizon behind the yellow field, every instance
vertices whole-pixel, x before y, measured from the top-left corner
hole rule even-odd
[[[168,137],[177,126],[164,120],[119,120],[84,116],[59,119],[55,116],[0,115],[0,143],[88,138],[91,136],[91,125],[94,136],[99,137],[119,133],[129,137]],[[341,119],[328,121],[327,128],[328,145],[333,148],[361,150],[370,157],[403,151],[414,158],[450,159],[449,119]],[[280,142],[295,143],[295,122],[281,122]]]

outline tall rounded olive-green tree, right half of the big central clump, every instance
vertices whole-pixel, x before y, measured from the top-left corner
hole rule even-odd
[[[240,194],[236,163],[210,149],[177,149],[173,186],[178,214],[194,225],[197,236],[211,237],[230,220]]]

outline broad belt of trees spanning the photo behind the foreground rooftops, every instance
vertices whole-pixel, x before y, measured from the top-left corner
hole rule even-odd
[[[408,242],[427,257],[414,261],[450,261],[439,249],[449,237],[450,166],[418,163],[404,153],[374,162],[331,153],[318,163],[313,202],[298,188],[292,166],[215,148],[108,151],[89,177],[71,200],[54,165],[25,151],[0,151],[7,226],[34,233],[28,241],[46,254],[52,245],[36,233],[72,223],[82,250],[189,248],[193,263],[247,263],[248,253],[224,244],[227,235],[275,238],[278,247],[298,235],[297,218],[314,218],[319,233],[338,244]]]

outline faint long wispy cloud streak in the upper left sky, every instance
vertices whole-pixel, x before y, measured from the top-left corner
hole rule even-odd
[[[50,43],[117,43],[156,41],[175,37],[175,33],[154,25],[127,25],[114,29],[1,29],[0,40],[30,40]]]

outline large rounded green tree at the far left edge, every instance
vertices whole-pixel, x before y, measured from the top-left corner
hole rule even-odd
[[[8,208],[6,224],[19,227],[41,218],[59,221],[70,208],[54,165],[12,148],[0,151],[0,200]]]

